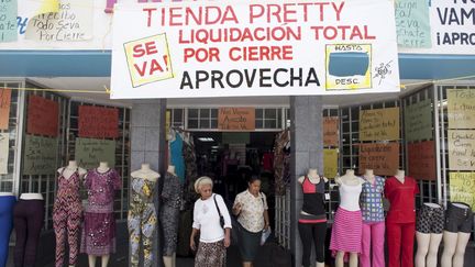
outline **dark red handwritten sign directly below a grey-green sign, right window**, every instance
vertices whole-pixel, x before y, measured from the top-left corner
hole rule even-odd
[[[435,144],[433,141],[408,144],[409,176],[435,180]]]

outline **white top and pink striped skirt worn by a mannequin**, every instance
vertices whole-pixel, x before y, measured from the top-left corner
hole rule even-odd
[[[330,241],[330,251],[334,256],[336,252],[361,253],[363,220],[360,209],[349,209],[358,203],[362,185],[340,186],[341,203],[336,210],[332,234]],[[343,197],[343,194],[345,194]],[[350,204],[351,202],[351,204]],[[346,208],[346,209],[345,209]]]

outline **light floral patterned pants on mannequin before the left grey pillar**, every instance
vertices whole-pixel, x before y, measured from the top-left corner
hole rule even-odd
[[[128,226],[131,246],[131,265],[139,266],[139,247],[142,235],[144,267],[153,264],[153,234],[157,224],[157,216],[153,203],[131,203]]]

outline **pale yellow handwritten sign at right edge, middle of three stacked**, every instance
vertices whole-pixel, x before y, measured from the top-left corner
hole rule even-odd
[[[475,170],[475,130],[449,130],[449,168]]]

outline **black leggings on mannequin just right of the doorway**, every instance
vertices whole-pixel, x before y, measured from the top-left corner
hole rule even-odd
[[[309,267],[312,242],[316,246],[317,264],[324,263],[324,241],[327,235],[327,222],[300,223],[299,233],[302,242],[302,266]]]

